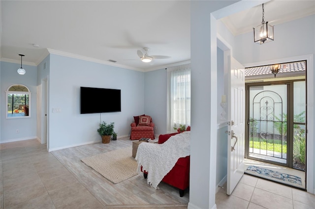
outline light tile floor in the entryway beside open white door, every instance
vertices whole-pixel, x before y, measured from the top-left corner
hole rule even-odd
[[[315,209],[315,195],[244,175],[230,196],[224,185],[216,195],[218,209]]]

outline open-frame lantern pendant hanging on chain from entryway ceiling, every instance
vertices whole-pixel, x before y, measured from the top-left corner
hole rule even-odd
[[[264,20],[264,4],[262,4],[262,22],[261,25],[253,27],[254,42],[264,44],[274,40],[274,26],[268,25],[268,21]]]

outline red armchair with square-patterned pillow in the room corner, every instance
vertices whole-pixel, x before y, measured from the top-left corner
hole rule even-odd
[[[130,140],[139,140],[140,138],[155,139],[154,126],[152,118],[149,115],[133,116],[134,122],[130,124]]]

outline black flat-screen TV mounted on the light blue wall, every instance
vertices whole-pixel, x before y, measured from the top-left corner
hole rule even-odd
[[[121,90],[82,87],[80,89],[81,114],[121,112]]]

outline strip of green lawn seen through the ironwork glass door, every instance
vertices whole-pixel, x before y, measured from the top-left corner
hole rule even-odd
[[[254,138],[254,141],[250,140],[250,148],[261,149],[261,150],[275,151],[278,153],[286,153],[286,144],[282,145],[281,140],[270,140],[266,143],[265,141],[259,141],[258,138]]]

